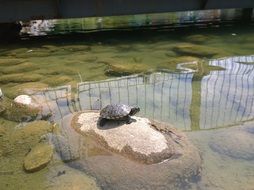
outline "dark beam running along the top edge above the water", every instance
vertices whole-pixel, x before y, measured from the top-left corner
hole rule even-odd
[[[253,7],[254,0],[0,0],[0,23]]]

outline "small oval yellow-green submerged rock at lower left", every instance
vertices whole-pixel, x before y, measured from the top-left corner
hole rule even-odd
[[[27,154],[24,160],[24,168],[28,172],[43,169],[53,156],[53,147],[49,144],[39,143]]]

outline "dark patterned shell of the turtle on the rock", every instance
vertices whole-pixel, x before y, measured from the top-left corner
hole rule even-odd
[[[107,105],[100,112],[100,117],[105,119],[121,119],[130,114],[132,107],[124,104]]]

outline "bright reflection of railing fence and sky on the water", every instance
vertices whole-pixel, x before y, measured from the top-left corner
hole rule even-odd
[[[124,103],[141,108],[140,116],[169,122],[184,130],[225,127],[253,120],[254,56],[209,61],[225,68],[202,76],[198,72],[156,72],[62,86],[34,94],[43,97],[55,120],[81,110],[99,110]],[[182,66],[181,66],[182,67]],[[198,77],[197,77],[198,76]],[[198,80],[197,80],[198,78]]]

